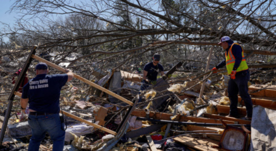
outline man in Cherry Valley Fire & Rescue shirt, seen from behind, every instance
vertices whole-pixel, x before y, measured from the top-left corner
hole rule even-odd
[[[53,150],[63,150],[65,131],[59,118],[59,97],[61,88],[74,78],[74,73],[65,69],[66,74],[47,75],[48,66],[42,62],[36,65],[35,71],[36,77],[23,87],[20,101],[22,113],[29,103],[32,137],[28,150],[39,150],[46,131],[53,141]]]

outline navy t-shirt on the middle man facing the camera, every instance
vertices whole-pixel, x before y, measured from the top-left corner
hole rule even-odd
[[[148,71],[147,78],[152,81],[157,80],[157,74],[161,71],[164,71],[164,68],[161,64],[153,65],[153,62],[149,62],[144,66],[144,70]]]

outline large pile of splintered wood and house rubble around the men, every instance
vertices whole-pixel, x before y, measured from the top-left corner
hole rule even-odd
[[[177,67],[173,69],[177,70]],[[174,71],[167,73],[166,77],[157,80],[156,85],[141,93],[139,97],[143,97],[143,101],[140,103],[137,103],[142,80],[139,74],[111,69],[107,75],[95,81],[77,78],[93,89],[84,89],[76,81],[68,84],[60,99],[60,106],[68,121],[65,131],[67,145],[64,149],[245,150],[251,145],[251,149],[260,150],[263,145],[269,149],[274,146],[272,138],[275,124],[272,115],[276,109],[276,86],[256,85],[255,80],[249,87],[255,106],[251,123],[249,120],[225,116],[230,110],[226,93],[229,78],[226,75],[207,79],[201,97],[202,79],[194,79],[194,76],[192,79],[189,77],[192,75],[187,74],[180,77],[185,78],[184,82],[175,84],[168,82]],[[198,73],[197,77],[201,75]],[[94,88],[95,85],[97,87]],[[91,93],[86,93],[88,90]],[[15,94],[21,95],[19,92]],[[4,98],[1,99],[5,104]],[[17,140],[9,143],[24,143],[27,146],[28,141],[23,142],[21,139],[29,137],[31,131],[28,123],[17,117],[20,116],[19,108],[15,108],[19,105],[18,101],[19,98],[15,98],[6,136],[10,135]],[[239,97],[240,115],[246,115],[243,106]],[[3,109],[2,115],[5,116]],[[252,135],[250,131],[240,128],[241,125],[251,130]],[[250,137],[252,142],[249,141]],[[258,144],[261,141],[269,144]],[[40,149],[51,150],[49,136],[45,137]]]

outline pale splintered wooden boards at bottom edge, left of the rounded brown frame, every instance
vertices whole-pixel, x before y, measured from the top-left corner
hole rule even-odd
[[[194,138],[190,136],[180,136],[175,137],[173,140],[180,142],[184,145],[187,145],[189,147],[198,149],[198,150],[214,150],[218,151],[216,148],[212,148],[211,146],[219,146],[219,141],[212,140],[208,138]]]

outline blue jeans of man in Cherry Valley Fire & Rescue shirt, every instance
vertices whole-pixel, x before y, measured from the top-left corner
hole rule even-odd
[[[46,131],[53,141],[53,151],[62,151],[64,146],[65,131],[61,129],[59,114],[29,115],[28,123],[32,129],[32,137],[29,143],[29,151],[38,151]]]

